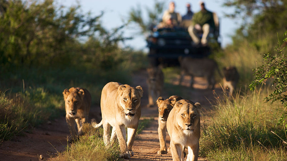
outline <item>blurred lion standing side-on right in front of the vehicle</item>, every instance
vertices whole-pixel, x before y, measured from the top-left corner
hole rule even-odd
[[[181,78],[179,84],[183,81],[184,75],[191,76],[190,87],[194,83],[193,77],[205,77],[208,81],[208,88],[214,89],[215,79],[214,79],[214,70],[217,69],[218,74],[221,76],[221,73],[218,69],[217,63],[209,58],[190,58],[190,57],[180,57],[179,63],[181,67]]]

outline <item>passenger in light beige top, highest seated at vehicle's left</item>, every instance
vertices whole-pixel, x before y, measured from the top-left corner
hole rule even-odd
[[[164,11],[163,13],[163,23],[167,24],[170,15],[173,25],[174,26],[179,25],[179,23],[181,22],[181,16],[179,13],[175,12],[174,9],[175,9],[175,3],[173,1],[169,2],[169,9]]]

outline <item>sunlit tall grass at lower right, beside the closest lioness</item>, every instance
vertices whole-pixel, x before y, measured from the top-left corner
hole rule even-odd
[[[286,160],[283,125],[276,125],[286,110],[281,103],[264,103],[268,88],[234,98],[217,96],[216,115],[203,127],[200,153],[209,160]]]

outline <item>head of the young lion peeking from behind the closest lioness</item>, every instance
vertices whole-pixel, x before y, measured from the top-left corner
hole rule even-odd
[[[159,97],[156,100],[156,104],[158,106],[158,112],[159,112],[159,119],[162,122],[166,122],[167,117],[169,115],[169,112],[171,109],[173,109],[174,104],[182,99],[179,96],[170,96],[168,99],[164,100],[163,97]]]

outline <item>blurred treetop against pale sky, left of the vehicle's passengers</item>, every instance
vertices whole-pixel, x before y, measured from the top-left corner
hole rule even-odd
[[[141,6],[138,5],[137,8],[131,8],[131,11],[129,11],[129,23],[135,23],[140,27],[140,30],[142,34],[148,33],[150,30],[150,27],[153,25],[156,25],[160,22],[161,17],[159,17],[160,14],[163,12],[163,6],[165,2],[155,1],[153,8],[146,7],[146,11],[148,14],[148,20],[145,21],[143,19],[142,15],[142,9]]]

